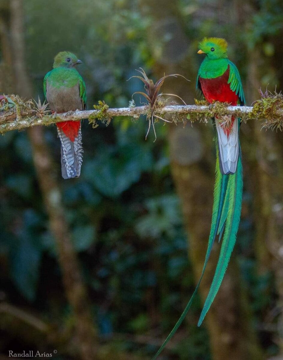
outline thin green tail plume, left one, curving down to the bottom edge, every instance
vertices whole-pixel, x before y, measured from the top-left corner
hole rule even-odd
[[[229,175],[222,175],[220,172],[218,145],[216,142],[216,166],[215,166],[215,186],[214,186],[213,211],[212,211],[210,235],[209,235],[207,251],[206,251],[206,255],[205,255],[205,261],[204,261],[204,266],[202,268],[201,277],[198,280],[195,291],[193,292],[192,297],[191,297],[190,301],[188,302],[185,310],[183,311],[182,315],[180,316],[179,320],[175,324],[174,328],[172,329],[172,331],[170,332],[170,334],[168,335],[168,337],[166,338],[164,343],[161,345],[158,352],[156,352],[156,354],[152,358],[152,360],[155,360],[158,357],[158,355],[164,349],[164,347],[166,346],[168,341],[172,338],[172,336],[175,334],[175,332],[177,331],[179,326],[182,324],[182,321],[184,320],[185,316],[187,315],[187,312],[191,307],[193,299],[196,296],[198,287],[200,286],[202,277],[204,276],[206,265],[209,260],[211,249],[212,249],[215,237],[216,237],[220,217],[222,214],[223,202],[224,202],[226,188],[227,188],[227,184],[228,184],[228,177],[229,177]]]

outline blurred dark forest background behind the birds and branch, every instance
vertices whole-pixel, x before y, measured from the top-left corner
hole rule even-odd
[[[0,0],[0,93],[44,99],[43,78],[74,52],[88,109],[125,107],[142,67],[164,93],[200,95],[198,41],[225,37],[247,105],[283,86],[281,0]],[[136,105],[140,96],[134,95]],[[141,100],[142,101],[142,100]],[[150,359],[190,299],[210,230],[211,123],[114,118],[82,125],[79,179],[63,180],[56,127],[0,139],[0,359]],[[198,316],[219,256],[159,359],[283,359],[283,134],[241,126],[241,223],[220,291]],[[49,355],[49,356],[50,356]]]

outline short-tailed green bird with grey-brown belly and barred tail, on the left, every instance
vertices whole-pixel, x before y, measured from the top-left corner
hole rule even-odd
[[[86,85],[76,69],[81,63],[68,51],[55,56],[53,70],[47,72],[43,82],[44,95],[52,112],[86,109]],[[78,177],[82,165],[81,121],[63,121],[56,125],[61,141],[62,176],[64,179]]]

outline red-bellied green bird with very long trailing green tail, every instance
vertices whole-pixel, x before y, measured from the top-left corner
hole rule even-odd
[[[205,37],[199,43],[199,49],[198,54],[204,54],[205,58],[198,70],[197,89],[202,92],[209,103],[219,101],[230,105],[243,105],[245,103],[245,97],[241,78],[236,65],[228,59],[226,40],[216,37]],[[200,326],[204,320],[222,283],[236,242],[241,216],[243,167],[239,143],[240,121],[241,119],[235,118],[234,116],[231,117],[228,124],[217,117],[213,119],[217,134],[215,186],[211,229],[204,266],[200,280],[196,285],[190,301],[152,360],[156,359],[164,349],[166,343],[175,334],[190,309],[204,275],[217,235],[219,235],[219,242],[223,236],[219,260],[198,321],[198,326]]]

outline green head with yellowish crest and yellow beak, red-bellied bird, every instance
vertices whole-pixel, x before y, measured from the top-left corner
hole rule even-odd
[[[206,54],[209,59],[227,58],[227,41],[220,37],[205,37],[198,44],[198,54]]]

